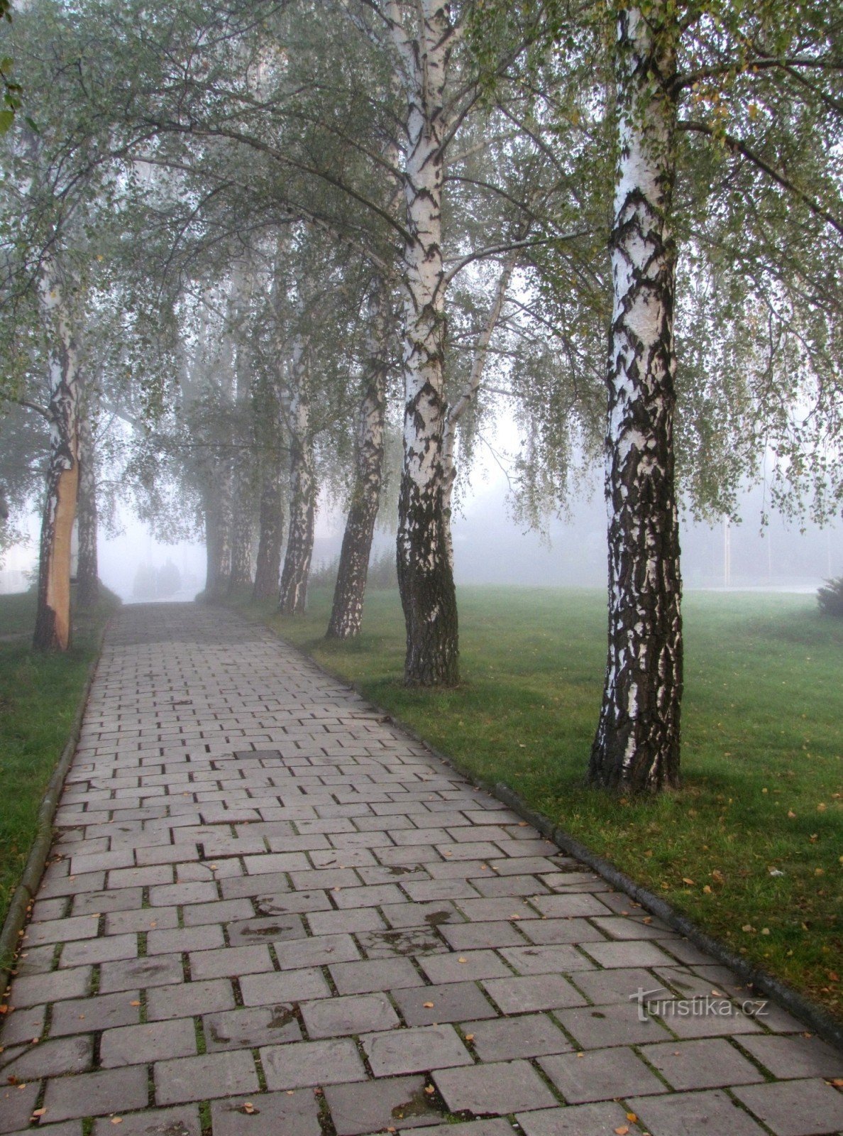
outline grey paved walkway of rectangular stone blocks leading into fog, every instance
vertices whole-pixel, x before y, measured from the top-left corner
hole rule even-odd
[[[838,1053],[234,615],[122,611],[57,824],[2,1133],[843,1128]]]

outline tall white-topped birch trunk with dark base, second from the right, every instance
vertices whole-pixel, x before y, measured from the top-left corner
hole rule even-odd
[[[442,435],[444,298],[442,184],[444,87],[453,28],[448,5],[419,0],[414,35],[391,3],[391,31],[408,99],[403,252],[404,424],[398,515],[398,582],[407,625],[404,682],[459,680],[457,593],[448,559]],[[407,10],[406,10],[407,11]],[[407,15],[409,19],[409,15]]]

